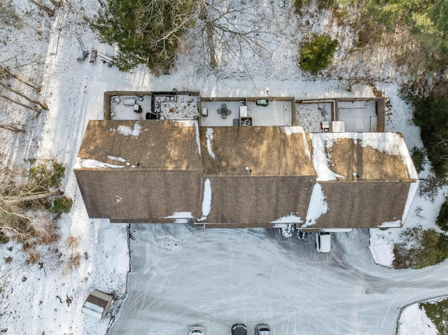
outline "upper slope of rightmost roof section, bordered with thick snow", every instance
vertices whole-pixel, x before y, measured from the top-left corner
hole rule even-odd
[[[310,134],[317,180],[417,180],[399,133]]]

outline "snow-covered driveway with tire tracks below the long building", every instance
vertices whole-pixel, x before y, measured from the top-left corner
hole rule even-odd
[[[368,231],[333,234],[318,255],[314,238],[283,241],[275,229],[199,229],[133,224],[128,293],[109,334],[395,334],[400,308],[446,294],[448,263],[420,271],[377,266]]]

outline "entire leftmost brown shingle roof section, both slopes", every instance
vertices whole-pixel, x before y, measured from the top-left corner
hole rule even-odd
[[[125,166],[86,168],[81,163],[75,169],[90,218],[173,222],[162,218],[175,212],[200,215],[197,134],[194,122],[90,121],[78,157]]]

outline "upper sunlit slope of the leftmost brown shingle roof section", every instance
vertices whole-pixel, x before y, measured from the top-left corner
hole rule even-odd
[[[143,169],[201,170],[198,142],[195,122],[90,121],[78,157]]]

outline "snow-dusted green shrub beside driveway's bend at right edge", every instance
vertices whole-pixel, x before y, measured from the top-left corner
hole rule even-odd
[[[407,228],[400,234],[402,243],[395,244],[395,269],[421,269],[439,264],[448,257],[448,236],[421,225]]]

